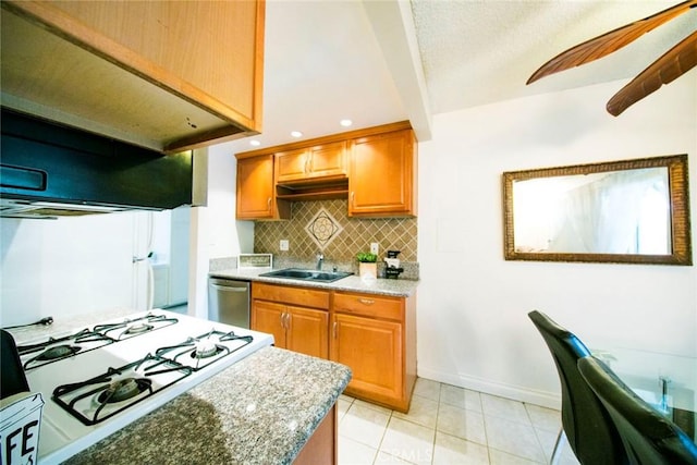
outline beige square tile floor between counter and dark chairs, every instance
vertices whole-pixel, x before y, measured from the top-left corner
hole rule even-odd
[[[549,463],[560,412],[419,378],[408,414],[339,399],[339,464]],[[578,465],[566,445],[561,465]]]

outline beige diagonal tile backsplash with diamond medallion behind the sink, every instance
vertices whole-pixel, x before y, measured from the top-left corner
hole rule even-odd
[[[346,199],[293,203],[291,220],[255,222],[254,252],[273,254],[274,261],[313,261],[321,253],[328,265],[352,265],[357,253],[370,252],[370,243],[377,242],[379,260],[387,250],[402,250],[401,261],[417,261],[416,218],[356,219],[347,211]],[[289,241],[288,252],[280,250],[281,240]]]

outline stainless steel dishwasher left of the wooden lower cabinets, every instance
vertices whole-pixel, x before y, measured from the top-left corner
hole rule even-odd
[[[208,319],[249,328],[249,281],[209,278]]]

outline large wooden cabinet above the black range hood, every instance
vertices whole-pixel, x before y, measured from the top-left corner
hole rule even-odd
[[[261,131],[264,0],[1,5],[5,107],[172,152]]]

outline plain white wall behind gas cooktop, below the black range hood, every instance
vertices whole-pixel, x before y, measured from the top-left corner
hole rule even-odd
[[[0,219],[0,326],[133,307],[138,215]]]

